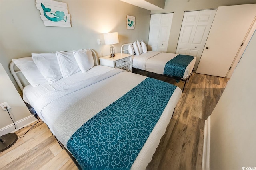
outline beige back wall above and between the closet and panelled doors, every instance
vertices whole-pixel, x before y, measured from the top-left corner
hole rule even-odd
[[[256,3],[256,0],[166,0],[164,10],[154,10],[151,14],[174,12],[167,52],[175,53],[185,11],[253,3]]]

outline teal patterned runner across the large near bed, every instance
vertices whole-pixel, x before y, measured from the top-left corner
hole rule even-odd
[[[146,78],[84,123],[67,143],[85,170],[128,170],[176,86]]]

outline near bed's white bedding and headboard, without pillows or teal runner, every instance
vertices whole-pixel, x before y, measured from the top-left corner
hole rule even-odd
[[[16,75],[19,71],[15,72],[13,67],[12,62],[10,70],[20,88],[23,89]],[[23,99],[34,107],[38,116],[48,125],[58,141],[67,147],[67,141],[79,127],[146,78],[120,69],[94,66],[85,73],[76,72],[52,84],[46,82],[36,87],[27,85],[23,90]],[[181,93],[178,87],[174,90],[131,169],[145,169],[152,159],[174,108],[180,100]]]

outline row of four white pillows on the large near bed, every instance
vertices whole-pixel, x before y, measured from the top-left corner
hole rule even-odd
[[[56,82],[60,78],[71,76],[80,70],[87,72],[94,66],[90,49],[42,54],[32,53],[32,57],[13,59],[12,61],[33,87],[45,82]]]

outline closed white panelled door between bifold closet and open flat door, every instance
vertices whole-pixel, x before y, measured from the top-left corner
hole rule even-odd
[[[176,53],[196,57],[194,70],[200,61],[215,14],[216,9],[184,13]]]

